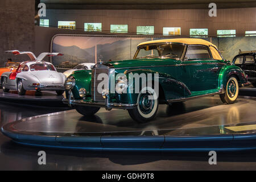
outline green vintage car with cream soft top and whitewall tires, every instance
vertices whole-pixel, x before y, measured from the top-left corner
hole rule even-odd
[[[63,102],[82,115],[95,114],[100,107],[127,109],[131,118],[143,123],[155,117],[159,104],[216,94],[233,104],[239,88],[249,84],[242,69],[224,60],[214,44],[162,39],[139,44],[132,60],[73,72],[65,82]]]

